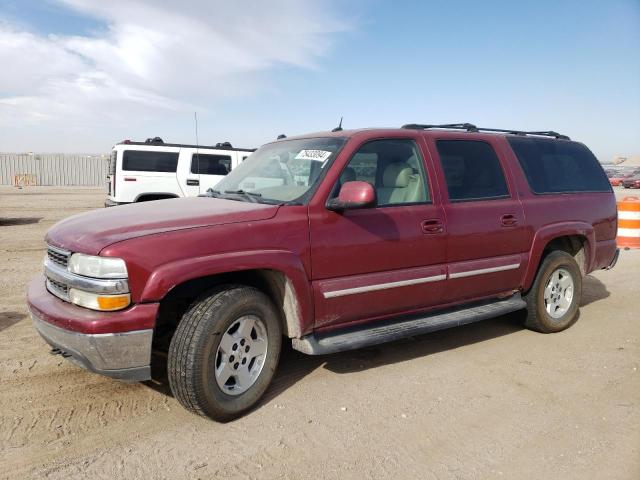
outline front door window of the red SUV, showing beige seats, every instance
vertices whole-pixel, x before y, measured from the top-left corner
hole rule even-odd
[[[370,183],[378,206],[427,203],[429,183],[424,162],[413,140],[387,139],[365,143],[342,170],[332,197],[346,182]]]

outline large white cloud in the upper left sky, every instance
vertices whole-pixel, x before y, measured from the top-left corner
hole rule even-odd
[[[275,66],[315,68],[348,28],[318,0],[58,1],[106,28],[45,36],[0,21],[0,128],[211,108]]]

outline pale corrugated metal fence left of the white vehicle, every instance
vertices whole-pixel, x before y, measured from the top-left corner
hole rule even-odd
[[[108,155],[0,154],[0,185],[12,185],[13,177],[32,174],[38,185],[102,187],[109,168]]]

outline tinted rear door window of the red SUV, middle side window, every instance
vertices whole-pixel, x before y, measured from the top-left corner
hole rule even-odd
[[[491,145],[469,140],[438,140],[437,147],[450,201],[509,196],[500,161]]]

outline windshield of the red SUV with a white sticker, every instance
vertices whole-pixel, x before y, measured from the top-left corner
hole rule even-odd
[[[264,202],[294,202],[310,192],[346,138],[284,140],[260,147],[221,180],[220,194],[251,194]]]

